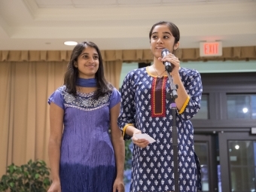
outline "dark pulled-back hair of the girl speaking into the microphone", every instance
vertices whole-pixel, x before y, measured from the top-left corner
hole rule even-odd
[[[179,38],[180,38],[178,27],[174,23],[169,22],[169,21],[160,21],[160,22],[155,23],[151,27],[151,30],[149,32],[149,42],[151,42],[151,35],[152,35],[154,28],[156,26],[162,26],[162,25],[168,26],[170,32],[172,32],[172,36],[175,38],[174,44],[178,43]]]

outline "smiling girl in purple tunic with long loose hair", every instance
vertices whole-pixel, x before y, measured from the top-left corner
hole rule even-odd
[[[48,192],[123,192],[120,93],[105,81],[96,44],[75,46],[64,85],[48,103],[53,180]]]

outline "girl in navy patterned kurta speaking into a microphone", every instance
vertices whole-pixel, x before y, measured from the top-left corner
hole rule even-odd
[[[197,191],[198,163],[194,154],[194,128],[190,118],[200,109],[202,83],[196,70],[180,67],[174,53],[179,45],[177,26],[160,22],[149,33],[154,63],[129,72],[121,88],[118,126],[124,139],[133,137],[133,164],[130,192],[173,191],[174,165],[172,151],[172,110],[166,98],[170,82],[163,62],[172,63],[172,80],[178,85],[176,120],[178,128],[178,191]],[[162,58],[166,48],[169,54]],[[147,133],[156,142],[137,139]]]

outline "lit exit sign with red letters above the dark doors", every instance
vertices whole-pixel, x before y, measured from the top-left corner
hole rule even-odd
[[[201,42],[200,56],[222,56],[222,43],[216,42]]]

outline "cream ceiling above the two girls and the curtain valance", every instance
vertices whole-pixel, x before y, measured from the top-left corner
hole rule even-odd
[[[148,49],[160,20],[178,26],[181,48],[256,46],[256,0],[1,0],[0,50],[72,50],[63,42],[85,40]]]

